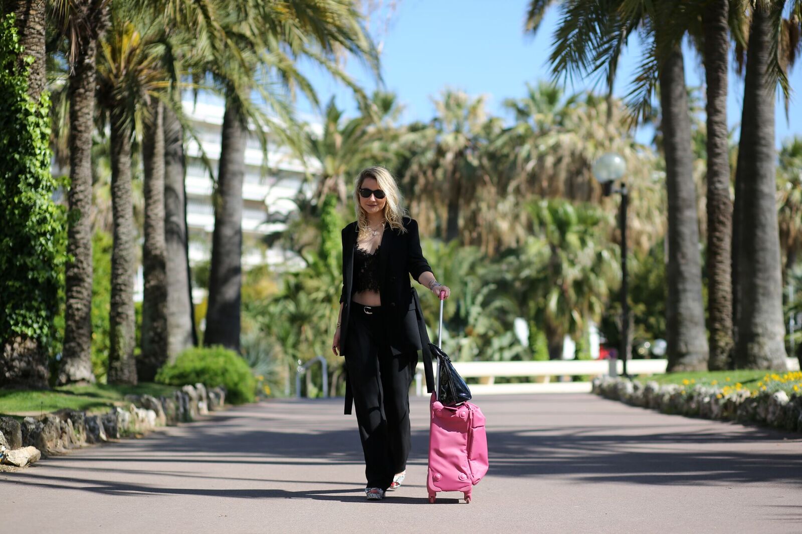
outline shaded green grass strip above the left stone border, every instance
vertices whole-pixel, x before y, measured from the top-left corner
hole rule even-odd
[[[172,394],[175,386],[142,383],[138,386],[63,386],[53,390],[3,390],[0,389],[0,414],[39,415],[51,411],[70,408],[71,410],[93,412],[108,411],[110,407],[122,404],[125,395],[149,394],[154,397]]]

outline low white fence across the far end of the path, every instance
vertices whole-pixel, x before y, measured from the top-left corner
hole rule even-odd
[[[463,378],[480,378],[480,383],[471,384],[472,394],[516,394],[516,393],[587,393],[590,382],[550,382],[553,376],[577,376],[623,373],[621,360],[550,360],[548,362],[455,362],[454,368]],[[628,360],[629,374],[662,374],[666,372],[668,360]],[[799,360],[788,358],[788,370],[799,370]],[[423,363],[418,364],[415,375],[415,390],[423,394]],[[523,384],[496,384],[496,377],[544,377],[543,382]]]

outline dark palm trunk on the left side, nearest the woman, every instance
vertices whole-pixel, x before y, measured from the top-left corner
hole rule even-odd
[[[217,192],[214,196],[212,269],[204,345],[240,348],[242,284],[242,180],[245,176],[245,119],[235,97],[225,101]]]

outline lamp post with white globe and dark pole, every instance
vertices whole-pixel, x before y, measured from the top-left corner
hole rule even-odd
[[[619,346],[620,358],[623,362],[624,376],[626,373],[626,360],[630,349],[630,305],[626,300],[626,204],[629,200],[626,184],[614,187],[616,181],[621,180],[626,172],[626,161],[615,153],[607,153],[599,157],[593,164],[593,176],[602,184],[602,194],[621,193],[621,208],[618,212],[618,225],[621,227],[621,343]]]

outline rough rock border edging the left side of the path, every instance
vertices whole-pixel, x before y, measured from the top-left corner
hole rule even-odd
[[[189,423],[208,415],[209,410],[222,410],[225,393],[224,387],[208,389],[197,383],[183,386],[167,397],[126,395],[126,407],[114,407],[102,415],[65,409],[38,418],[26,417],[22,423],[0,417],[0,463],[26,467],[40,456],[64,454],[109,439],[144,435],[156,427]]]

